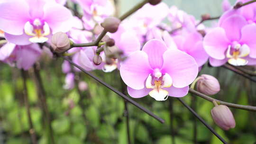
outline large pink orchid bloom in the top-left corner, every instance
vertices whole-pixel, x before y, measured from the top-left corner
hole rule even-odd
[[[0,3],[0,29],[17,45],[44,43],[51,33],[67,32],[71,12],[52,0],[9,0]]]

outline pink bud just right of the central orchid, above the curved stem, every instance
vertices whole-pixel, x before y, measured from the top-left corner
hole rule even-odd
[[[199,92],[206,95],[214,95],[219,92],[219,81],[208,74],[202,74],[200,80],[197,81],[196,88]]]

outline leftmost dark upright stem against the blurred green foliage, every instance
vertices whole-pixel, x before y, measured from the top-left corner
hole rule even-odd
[[[28,124],[29,124],[29,134],[31,136],[32,144],[37,144],[37,136],[35,133],[35,129],[33,126],[33,122],[31,119],[31,113],[30,113],[30,105],[27,97],[27,72],[25,72],[23,69],[21,70],[21,75],[23,79],[23,99],[25,103],[25,107],[27,109],[27,118],[28,118]]]

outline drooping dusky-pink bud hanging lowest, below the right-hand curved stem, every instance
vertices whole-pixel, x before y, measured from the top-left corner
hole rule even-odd
[[[215,106],[210,111],[215,124],[223,130],[229,130],[236,126],[236,121],[230,109],[225,105]]]

